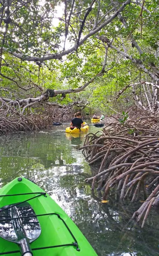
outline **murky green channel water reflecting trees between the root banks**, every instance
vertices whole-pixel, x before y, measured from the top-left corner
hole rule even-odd
[[[90,126],[89,131],[97,129]],[[81,134],[66,136],[65,126],[1,136],[0,187],[18,176],[34,180],[73,219],[99,256],[159,255],[158,212],[151,212],[141,229],[129,221],[139,204],[121,204],[113,191],[109,203],[101,203],[101,194],[92,194],[84,182],[91,170],[78,150],[83,140]]]

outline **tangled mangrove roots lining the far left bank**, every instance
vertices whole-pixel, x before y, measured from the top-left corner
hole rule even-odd
[[[21,131],[37,131],[40,129],[49,129],[54,120],[66,121],[71,119],[72,109],[65,109],[57,106],[47,106],[41,109],[34,109],[34,113],[22,115],[20,111],[5,102],[0,107],[0,135]]]

